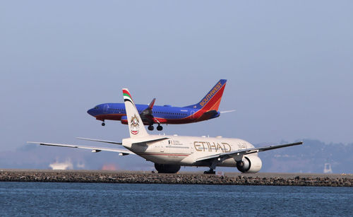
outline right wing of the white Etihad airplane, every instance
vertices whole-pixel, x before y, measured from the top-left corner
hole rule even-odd
[[[234,158],[234,156],[245,156],[248,155],[250,153],[256,153],[256,152],[260,152],[260,151],[268,151],[268,150],[272,150],[272,149],[276,149],[276,148],[284,148],[284,147],[288,147],[288,146],[297,146],[297,145],[301,145],[303,142],[299,141],[299,142],[295,142],[295,143],[287,143],[287,144],[282,144],[282,145],[277,145],[277,146],[265,146],[265,147],[261,147],[261,148],[246,148],[246,149],[240,149],[237,151],[229,151],[229,152],[225,152],[225,153],[218,153],[212,156],[205,156],[202,158],[198,158],[196,159],[197,161],[201,161],[201,160],[211,160],[211,159],[216,159],[216,158],[222,158],[222,160],[226,160],[228,158]]]

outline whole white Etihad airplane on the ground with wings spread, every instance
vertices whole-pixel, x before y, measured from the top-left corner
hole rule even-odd
[[[78,139],[113,143],[122,145],[127,149],[76,146],[59,143],[28,143],[38,143],[43,146],[85,148],[91,149],[92,152],[114,151],[118,152],[120,156],[137,154],[155,163],[155,169],[162,173],[178,172],[181,166],[209,167],[210,170],[205,171],[205,174],[214,174],[216,167],[236,167],[240,172],[258,172],[262,167],[261,159],[258,158],[258,152],[296,146],[303,143],[300,141],[256,148],[251,143],[242,139],[222,138],[222,136],[150,135],[147,133],[143,122],[141,122],[140,115],[128,89],[123,89],[123,95],[130,138],[123,139],[122,142],[86,138]]]

